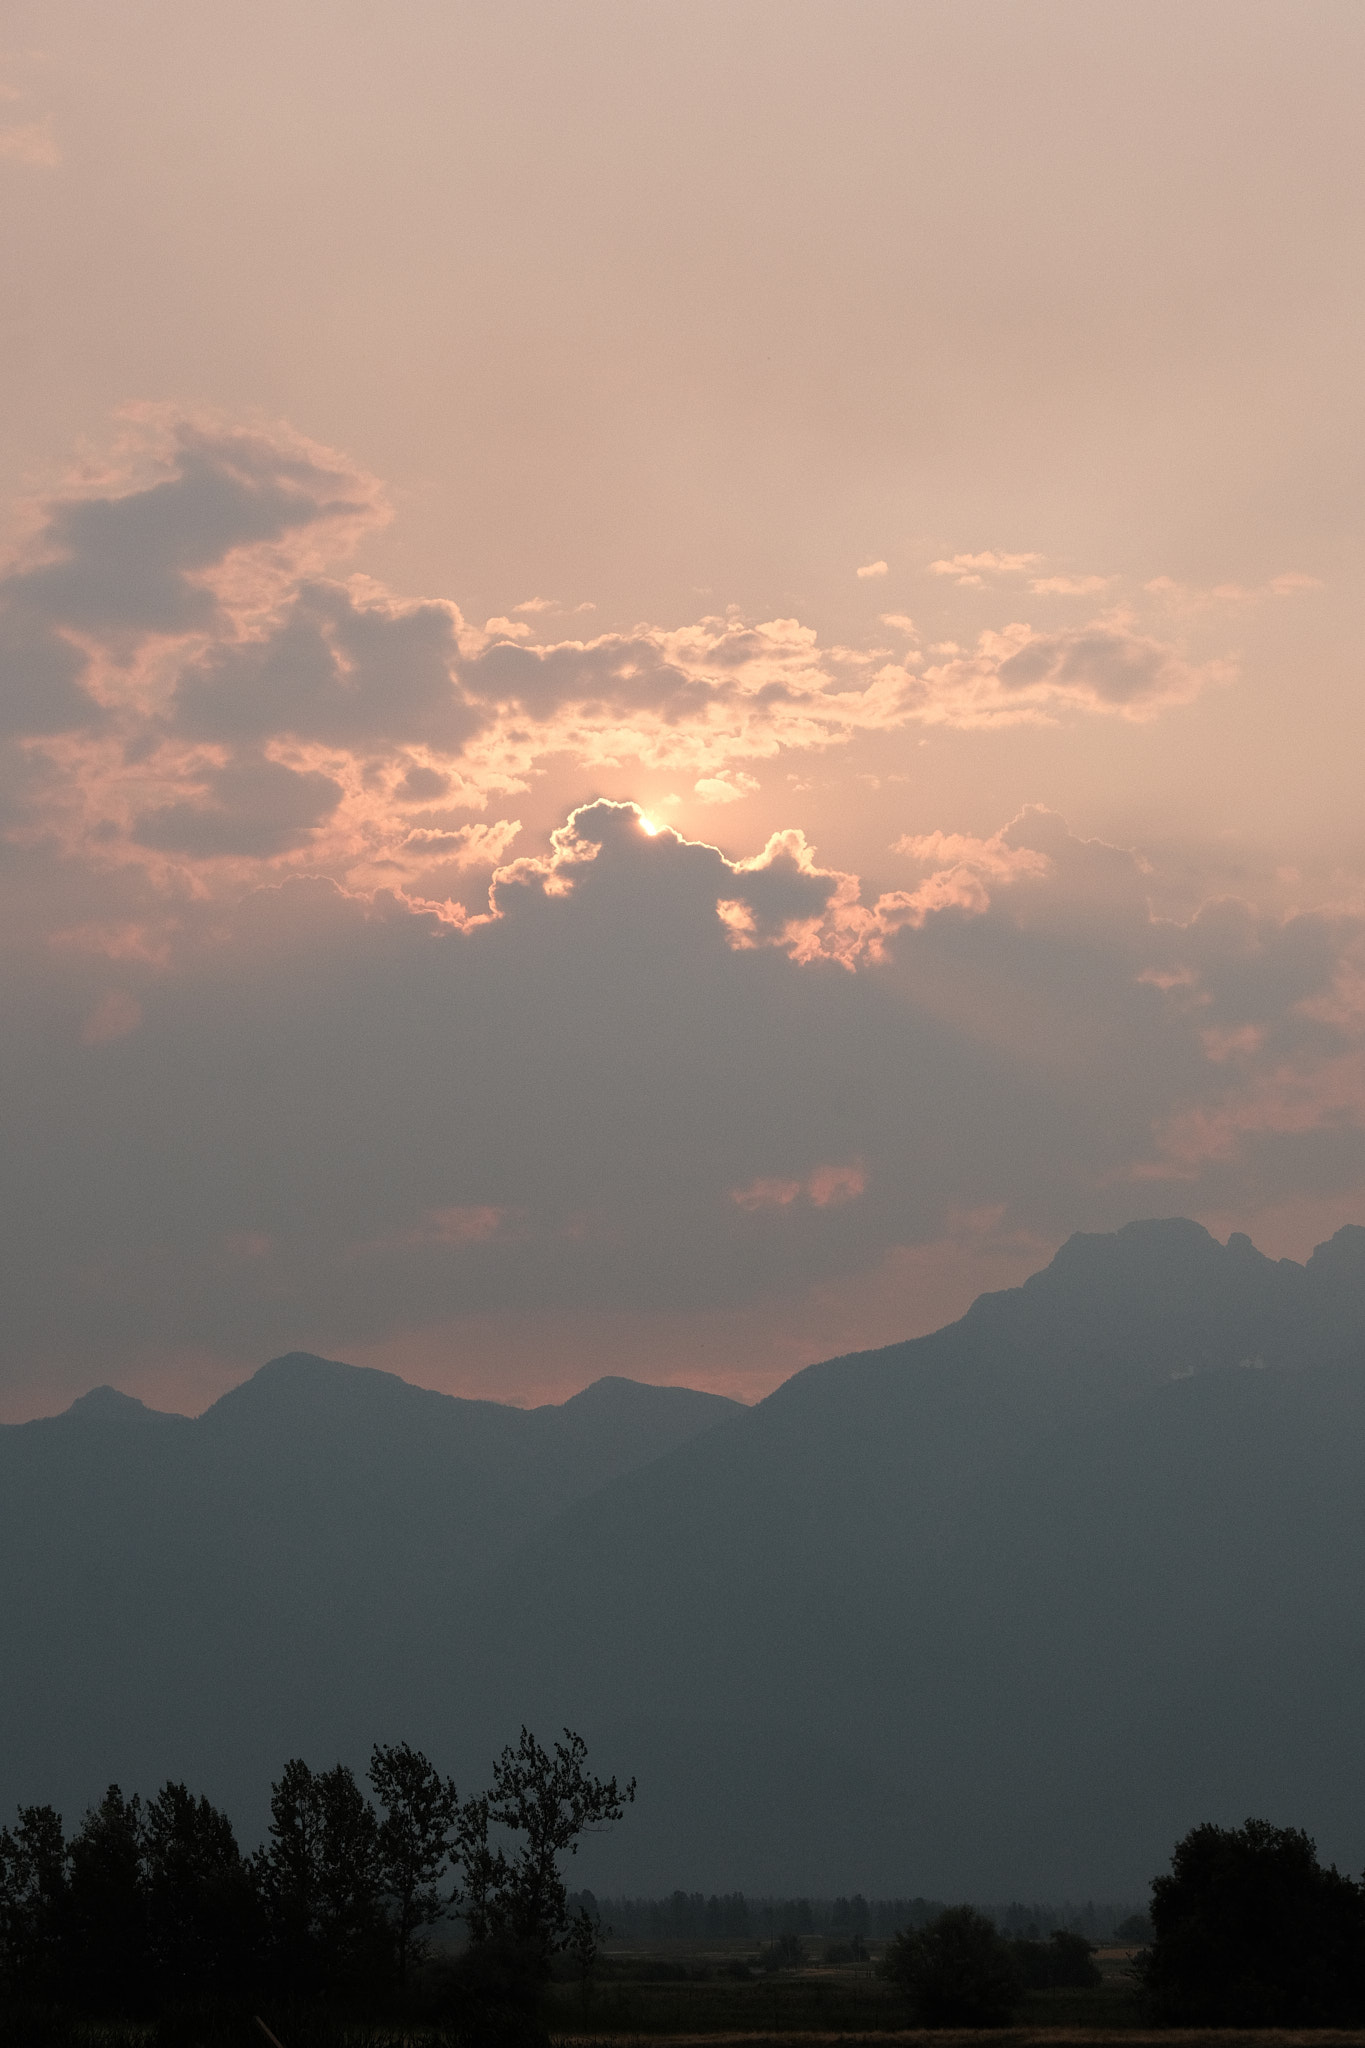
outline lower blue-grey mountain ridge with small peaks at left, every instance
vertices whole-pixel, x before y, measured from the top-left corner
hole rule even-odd
[[[477,1655],[493,1565],[739,1411],[620,1378],[512,1409],[295,1352],[194,1421],[96,1389],[0,1427],[0,1802],[170,1774],[250,1829],[291,1753],[450,1753],[432,1669]]]

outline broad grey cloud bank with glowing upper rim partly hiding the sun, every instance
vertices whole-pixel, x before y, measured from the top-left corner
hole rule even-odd
[[[1365,1186],[1363,920],[1162,918],[1144,856],[1038,807],[898,858],[874,895],[796,829],[726,856],[600,801],[463,920],[90,868],[57,924],[39,848],[4,881],[0,1370],[467,1325],[491,1358],[508,1317],[643,1341],[851,1298],[962,1217],[1042,1247]]]

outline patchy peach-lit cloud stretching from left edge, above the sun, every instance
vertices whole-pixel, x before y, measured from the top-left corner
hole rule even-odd
[[[31,508],[0,571],[16,842],[139,862],[164,889],[305,870],[448,903],[475,848],[508,844],[505,815],[471,834],[469,813],[548,762],[686,774],[702,803],[735,803],[782,754],[913,725],[1146,719],[1228,676],[1115,621],[1009,625],[925,668],[735,612],[532,643],[524,618],[477,629],[448,598],[340,580],[385,518],[372,477],[282,428],[131,412],[108,463]]]

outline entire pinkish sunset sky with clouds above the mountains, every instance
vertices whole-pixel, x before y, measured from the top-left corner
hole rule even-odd
[[[1353,0],[0,23],[0,1419],[1365,1221]]]

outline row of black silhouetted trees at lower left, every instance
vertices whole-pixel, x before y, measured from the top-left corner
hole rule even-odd
[[[473,1798],[407,1743],[377,1745],[366,1780],[291,1759],[250,1855],[184,1784],[147,1802],[111,1786],[72,1837],[51,1806],[20,1806],[0,1829],[0,1985],[100,2015],[401,2009],[454,1917],[467,2001],[534,1993],[561,1950],[591,1966],[596,1923],[569,1905],[559,1860],[620,1819],[634,1782],[593,1778],[571,1731],[546,1751],[526,1729]]]

